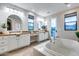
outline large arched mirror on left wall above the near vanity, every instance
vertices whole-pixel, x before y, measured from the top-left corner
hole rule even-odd
[[[22,29],[21,18],[17,15],[10,15],[7,18],[7,31],[20,31]]]

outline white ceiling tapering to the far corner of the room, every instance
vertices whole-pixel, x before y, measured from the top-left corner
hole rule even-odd
[[[71,4],[71,7],[67,7],[64,3],[12,3],[12,4],[24,8],[26,10],[33,11],[43,17],[79,6],[78,3]]]

